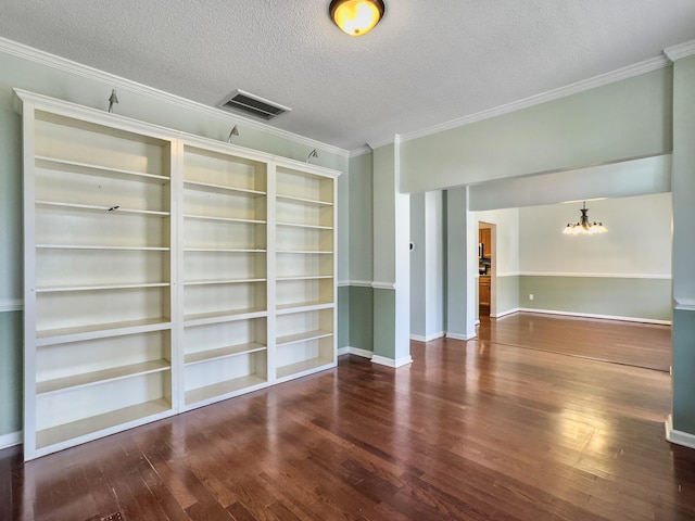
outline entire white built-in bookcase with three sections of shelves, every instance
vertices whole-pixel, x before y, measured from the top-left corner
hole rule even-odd
[[[25,458],[336,365],[336,170],[15,90]]]

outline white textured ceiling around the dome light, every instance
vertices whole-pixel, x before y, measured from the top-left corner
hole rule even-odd
[[[270,125],[346,150],[659,56],[695,0],[386,0],[352,38],[329,0],[2,0],[0,36],[206,105],[240,88]]]

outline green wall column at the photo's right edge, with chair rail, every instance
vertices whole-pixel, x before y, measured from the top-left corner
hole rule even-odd
[[[695,448],[695,52],[673,60],[673,410],[671,442]],[[669,58],[672,58],[672,54]]]

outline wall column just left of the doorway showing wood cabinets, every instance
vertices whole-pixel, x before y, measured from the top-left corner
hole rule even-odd
[[[468,211],[468,187],[446,191],[446,336],[476,336],[478,229]]]

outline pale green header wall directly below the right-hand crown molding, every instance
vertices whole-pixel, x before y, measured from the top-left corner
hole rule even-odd
[[[401,144],[401,191],[670,152],[671,73],[665,67],[406,141]]]

